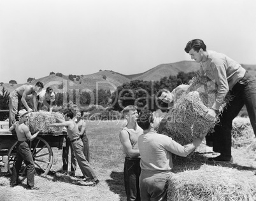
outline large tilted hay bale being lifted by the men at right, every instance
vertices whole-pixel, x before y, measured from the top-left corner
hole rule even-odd
[[[185,145],[199,137],[202,131],[213,130],[218,117],[210,121],[204,116],[208,108],[213,106],[216,94],[217,85],[213,81],[206,76],[194,77],[189,83],[187,92],[174,101],[174,106],[167,113],[167,122],[162,134]],[[224,109],[229,99],[230,97],[227,96],[220,111]]]

